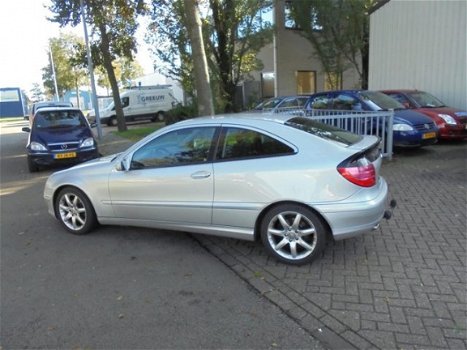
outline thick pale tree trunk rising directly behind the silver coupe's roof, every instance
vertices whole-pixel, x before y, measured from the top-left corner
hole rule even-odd
[[[204,41],[201,31],[201,19],[196,0],[184,0],[187,16],[188,35],[190,37],[193,52],[193,64],[195,70],[195,86],[198,96],[198,113],[214,115],[211,84],[209,80],[208,61],[204,50]]]

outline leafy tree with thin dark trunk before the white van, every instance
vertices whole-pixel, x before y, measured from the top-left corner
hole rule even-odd
[[[144,14],[143,0],[82,0],[85,21],[92,28],[91,50],[94,64],[102,65],[108,75],[117,115],[119,131],[127,129],[122,103],[115,76],[113,61],[117,57],[133,59],[136,53],[134,37],[139,15]],[[80,0],[52,0],[49,10],[54,14],[51,21],[60,26],[76,26],[81,22]]]

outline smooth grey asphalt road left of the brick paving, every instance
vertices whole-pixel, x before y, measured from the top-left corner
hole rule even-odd
[[[323,349],[191,235],[67,233],[42,198],[52,170],[27,170],[26,123],[0,123],[0,349]]]

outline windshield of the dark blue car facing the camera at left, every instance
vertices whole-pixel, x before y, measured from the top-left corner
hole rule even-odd
[[[37,129],[66,128],[71,126],[86,126],[86,121],[80,111],[39,110],[34,118],[34,127]]]

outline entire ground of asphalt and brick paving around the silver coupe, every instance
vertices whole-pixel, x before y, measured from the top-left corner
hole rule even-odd
[[[126,147],[104,129],[101,151]],[[9,137],[18,135],[24,145],[24,135]],[[467,348],[465,142],[384,161],[393,218],[296,267],[234,239],[113,227],[64,234],[40,198],[48,172],[27,174],[22,150],[5,152],[10,139],[2,136],[5,349],[319,348],[309,335],[329,349]],[[112,338],[125,332],[133,335]]]

